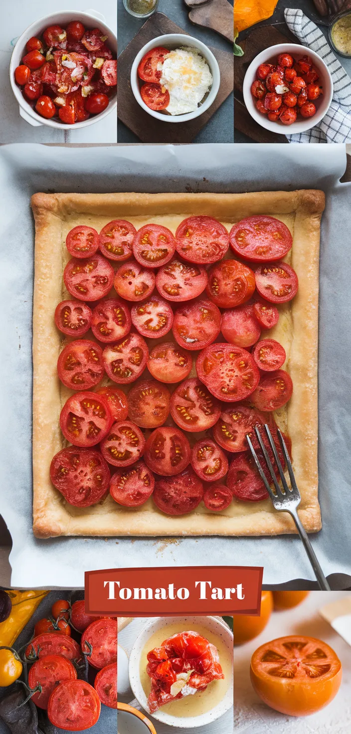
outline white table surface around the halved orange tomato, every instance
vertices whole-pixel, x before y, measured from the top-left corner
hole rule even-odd
[[[319,615],[319,609],[350,592],[310,592],[300,606],[274,612],[256,639],[234,647],[235,734],[347,734],[351,732],[351,647]],[[283,635],[310,635],[333,647],[343,668],[339,693],[312,716],[295,718],[273,711],[256,695],[250,683],[250,659],[264,642]]]

